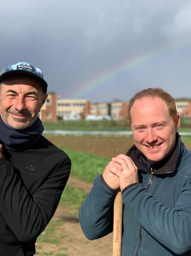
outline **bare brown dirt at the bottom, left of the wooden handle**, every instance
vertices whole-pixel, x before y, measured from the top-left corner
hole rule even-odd
[[[59,244],[52,243],[36,243],[41,246],[37,249],[36,255],[67,255],[67,256],[111,256],[112,255],[112,234],[106,237],[90,241],[88,240],[80,227],[79,222],[68,221],[59,227],[59,232],[62,231],[63,239],[59,239]],[[52,254],[50,254],[52,252]],[[48,254],[49,253],[49,254]]]

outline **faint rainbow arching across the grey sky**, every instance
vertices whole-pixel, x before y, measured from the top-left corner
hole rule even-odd
[[[121,74],[124,74],[126,72],[129,72],[133,68],[137,68],[149,61],[152,61],[156,59],[157,57],[160,57],[163,54],[166,54],[168,52],[172,52],[177,48],[183,48],[186,45],[190,46],[190,42],[188,41],[186,43],[176,43],[173,46],[165,46],[160,47],[158,49],[155,49],[153,51],[140,54],[138,56],[134,56],[133,58],[130,58],[128,60],[124,60],[121,63],[119,63],[117,66],[112,67],[108,70],[104,70],[103,72],[97,74],[92,79],[88,80],[87,82],[81,84],[78,86],[77,89],[75,89],[75,93],[73,94],[73,97],[75,98],[83,98],[85,97],[89,92],[100,88],[104,86],[104,84],[108,81],[111,81],[112,79],[116,78],[117,76],[120,76]]]

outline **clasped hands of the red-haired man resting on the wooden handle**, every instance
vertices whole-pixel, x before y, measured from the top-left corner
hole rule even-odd
[[[112,158],[103,172],[103,178],[111,188],[120,188],[121,191],[139,182],[136,165],[129,156],[122,154]]]

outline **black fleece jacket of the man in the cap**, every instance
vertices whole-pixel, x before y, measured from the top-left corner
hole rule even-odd
[[[32,256],[67,183],[71,162],[42,135],[0,158],[0,256]]]

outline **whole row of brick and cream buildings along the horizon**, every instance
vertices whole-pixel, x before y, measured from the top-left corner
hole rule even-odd
[[[181,118],[191,118],[191,101],[189,99],[177,99],[175,104]],[[113,120],[125,120],[128,119],[127,108],[128,102],[115,101],[91,104],[89,100],[57,99],[55,93],[49,93],[39,116],[42,121],[78,120],[86,115],[107,116]]]

